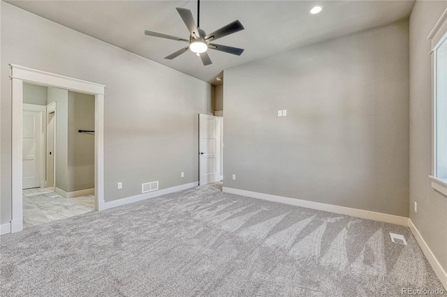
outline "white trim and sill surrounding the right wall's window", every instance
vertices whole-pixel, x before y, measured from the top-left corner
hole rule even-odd
[[[447,10],[446,10],[447,12]],[[444,12],[445,13],[445,12]],[[444,14],[443,14],[444,16]],[[443,17],[441,17],[443,18]],[[441,27],[437,23],[434,29],[436,27]],[[433,36],[434,33],[430,33],[430,36]],[[430,38],[429,36],[429,38]],[[438,178],[436,176],[437,173],[437,49],[441,46],[444,41],[447,40],[447,32],[444,34],[444,36],[441,37],[441,39],[438,41],[436,45],[432,48],[430,51],[430,54],[432,54],[432,175],[429,175],[428,177],[432,181],[432,188],[434,190],[437,190],[438,192],[441,192],[443,195],[447,196],[447,178]]]

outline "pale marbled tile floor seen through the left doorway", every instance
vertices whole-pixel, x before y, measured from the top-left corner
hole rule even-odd
[[[53,188],[23,190],[23,227],[45,224],[94,211],[94,195],[64,198]]]

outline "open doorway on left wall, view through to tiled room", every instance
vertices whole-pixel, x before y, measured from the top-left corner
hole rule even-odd
[[[94,96],[23,84],[23,227],[94,211],[94,123]]]

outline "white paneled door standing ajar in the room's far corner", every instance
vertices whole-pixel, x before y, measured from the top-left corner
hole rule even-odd
[[[219,181],[219,118],[199,114],[199,184]]]

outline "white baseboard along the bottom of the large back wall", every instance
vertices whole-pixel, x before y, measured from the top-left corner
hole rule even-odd
[[[386,213],[376,213],[374,211],[364,211],[357,208],[349,208],[344,206],[337,206],[331,204],[324,204],[319,202],[312,202],[301,199],[294,199],[289,197],[282,197],[270,194],[263,194],[258,192],[251,192],[246,190],[239,190],[234,188],[222,188],[223,192],[228,192],[235,195],[242,195],[257,199],[269,200],[279,202],[283,204],[291,204],[294,206],[301,206],[305,208],[312,208],[318,211],[328,211],[330,213],[339,213],[342,215],[351,215],[352,217],[362,218],[367,220],[376,220],[380,222],[388,222],[391,224],[400,224],[402,226],[408,226],[408,218],[400,217],[398,215],[388,215]]]

